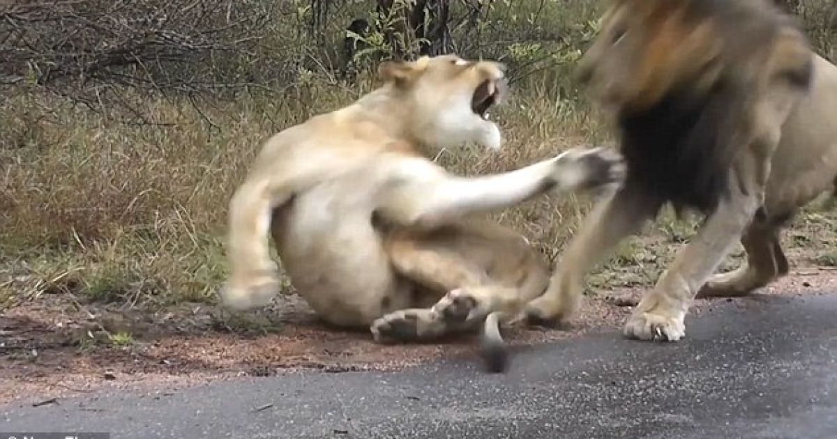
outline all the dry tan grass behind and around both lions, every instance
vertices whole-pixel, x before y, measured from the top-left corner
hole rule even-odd
[[[585,35],[595,10],[578,4],[562,7],[553,25],[583,23],[571,26],[572,35]],[[816,36],[823,53],[833,52],[834,33]],[[504,171],[568,145],[607,140],[567,79],[575,50],[571,45],[564,51],[566,65],[558,61],[516,84],[513,99],[496,115],[505,151],[486,155],[465,147],[444,151],[439,161],[464,174]],[[110,115],[33,89],[4,95],[0,309],[49,292],[126,305],[213,302],[226,273],[222,244],[229,196],[261,142],[372,86],[368,78],[350,86],[307,78],[281,93],[242,94],[234,102],[199,107],[134,95],[136,110],[158,125],[116,123]],[[545,197],[496,217],[555,258],[588,207],[586,198]],[[693,227],[664,216],[648,235],[624,243],[591,285],[653,283]],[[833,231],[834,217],[813,212],[788,232],[786,242],[817,252],[833,245]],[[834,255],[809,255],[808,261],[833,265]]]

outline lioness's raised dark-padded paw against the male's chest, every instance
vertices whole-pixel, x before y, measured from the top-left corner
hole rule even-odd
[[[610,148],[572,148],[555,161],[552,178],[559,191],[579,191],[619,184],[627,173],[624,159]]]

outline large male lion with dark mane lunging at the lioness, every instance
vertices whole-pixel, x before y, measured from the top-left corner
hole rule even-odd
[[[666,202],[706,219],[628,337],[676,341],[696,296],[741,296],[788,273],[780,228],[837,176],[837,68],[792,18],[766,0],[614,0],[578,70],[619,125],[628,176],[526,306],[531,321],[571,315],[593,264]],[[738,239],[747,264],[711,277]]]

